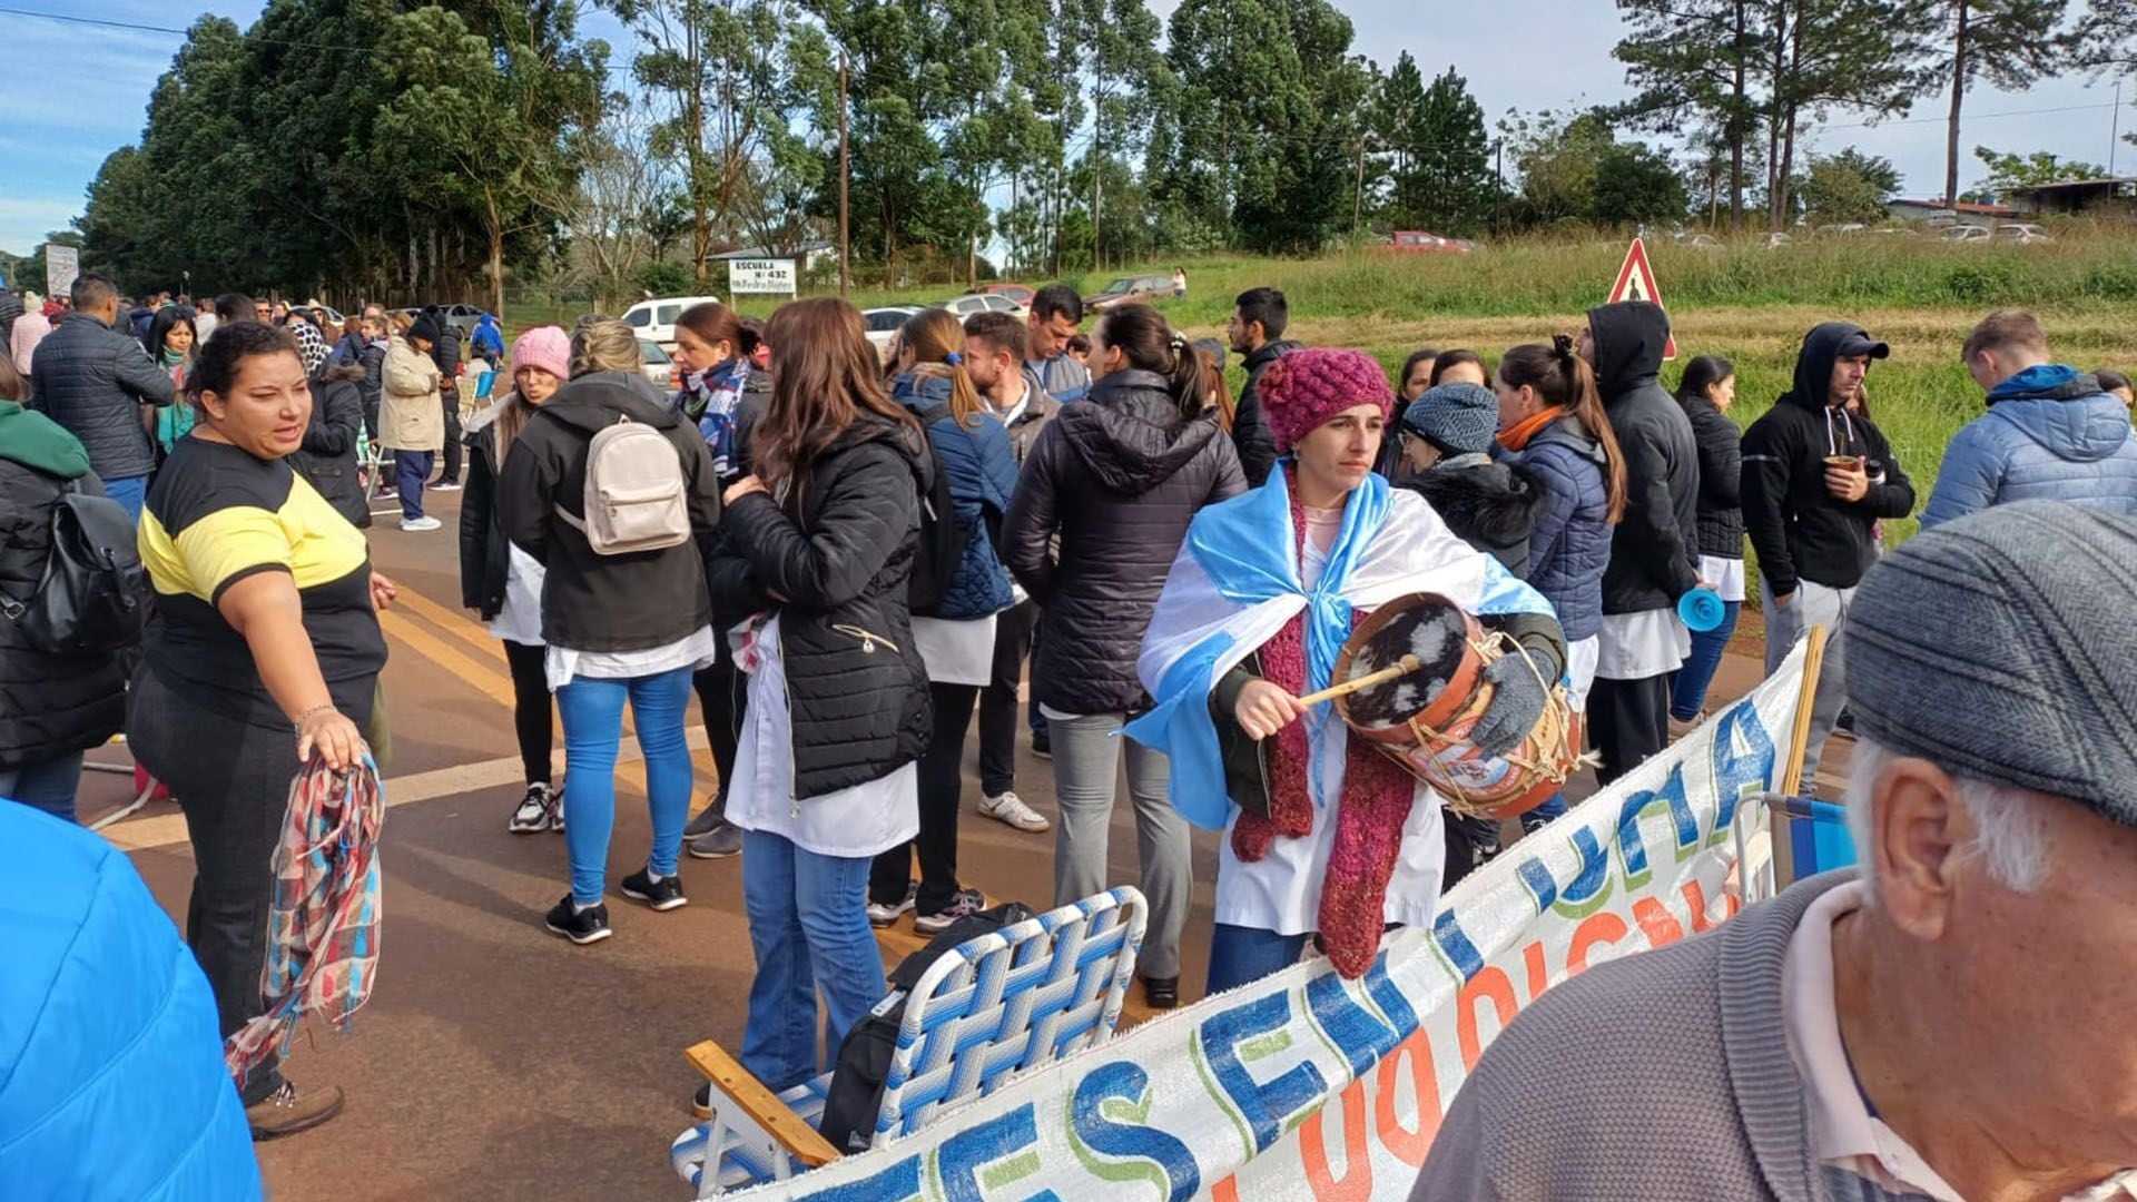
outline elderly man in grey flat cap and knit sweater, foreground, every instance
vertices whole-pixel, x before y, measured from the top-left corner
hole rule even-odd
[[[1413,1202],[2137,1198],[2137,522],[1919,535],[1846,639],[1857,870],[1543,995]]]

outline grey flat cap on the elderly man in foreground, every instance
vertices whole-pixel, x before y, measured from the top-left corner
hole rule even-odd
[[[1857,727],[2137,826],[2137,520],[1998,505],[1908,539],[1849,610]]]

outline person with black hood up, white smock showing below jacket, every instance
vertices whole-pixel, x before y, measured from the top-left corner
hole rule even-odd
[[[1609,785],[1669,746],[1669,678],[1690,654],[1678,597],[1699,586],[1699,443],[1693,423],[1656,379],[1669,314],[1650,302],[1588,310],[1579,355],[1624,458],[1624,520],[1611,530],[1603,571],[1603,631],[1588,729]]]

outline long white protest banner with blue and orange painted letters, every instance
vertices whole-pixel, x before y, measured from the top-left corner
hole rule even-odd
[[[1524,1005],[1735,913],[1731,821],[1801,755],[1808,652],[1462,881],[1366,977],[1312,958],[737,1198],[1406,1198],[1440,1114]]]

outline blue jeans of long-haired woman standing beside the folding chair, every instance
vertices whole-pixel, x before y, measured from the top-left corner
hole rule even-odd
[[[571,787],[579,787],[577,779]],[[868,856],[818,856],[780,834],[742,832],[742,909],[756,952],[742,1067],[774,1093],[823,1072],[818,986],[833,1057],[887,992],[883,952],[868,926],[870,864]]]

